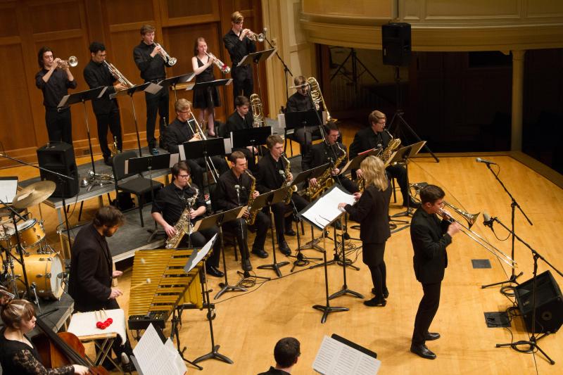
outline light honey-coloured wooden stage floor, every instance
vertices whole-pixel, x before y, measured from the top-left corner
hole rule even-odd
[[[350,142],[348,141],[348,144]],[[534,172],[510,156],[493,155],[490,158],[502,168],[500,178],[514,195],[521,208],[529,215],[533,227],[526,223],[520,212],[516,213],[517,234],[536,248],[552,265],[563,269],[559,246],[563,243],[563,191],[555,184]],[[496,166],[493,166],[495,168]],[[475,163],[474,155],[453,155],[441,157],[440,163],[431,158],[416,158],[409,167],[411,182],[428,182],[442,186],[446,201],[464,208],[467,212],[483,212],[497,216],[510,224],[510,198],[486,165]],[[1,170],[1,175],[17,173],[20,179],[34,174],[27,167]],[[398,193],[398,203],[402,199]],[[83,217],[91,218],[96,210],[96,201],[84,205]],[[391,204],[391,213],[401,210],[398,204]],[[37,208],[32,209],[36,216]],[[49,241],[58,245],[53,234],[55,211],[43,208]],[[72,215],[71,222],[76,220]],[[482,215],[474,230],[490,240],[495,246],[510,254],[510,241],[497,241],[490,229],[483,227]],[[495,225],[495,231],[503,239],[506,232]],[[319,234],[319,232],[315,232]],[[350,230],[350,235],[358,232]],[[116,236],[119,236],[116,234]],[[296,240],[289,245],[296,248]],[[305,241],[310,239],[310,230],[305,230]],[[267,244],[270,242],[270,237]],[[271,246],[271,245],[270,245]],[[355,260],[360,271],[348,269],[348,287],[371,298],[372,288],[369,270],[361,262],[359,241],[350,241],[348,258]],[[258,265],[271,262],[271,248],[266,249],[270,258],[265,260],[251,256],[255,272],[260,276],[274,277],[270,270],[258,270]],[[332,247],[327,245],[331,254]],[[305,250],[305,254],[318,257],[316,250]],[[393,234],[387,242],[386,264],[390,295],[386,307],[365,307],[362,300],[344,296],[331,300],[331,305],[349,307],[348,312],[331,313],[325,324],[320,323],[322,313],[313,310],[312,305],[324,304],[324,272],[322,267],[308,269],[297,267],[290,273],[291,265],[282,267],[284,277],[257,284],[247,293],[224,294],[216,305],[213,321],[215,343],[220,352],[231,358],[234,364],[217,360],[202,362],[203,371],[189,367],[190,374],[256,374],[265,371],[274,363],[273,348],[279,338],[294,336],[301,341],[301,357],[294,367],[294,374],[313,374],[312,362],[324,335],[338,333],[360,345],[374,350],[381,360],[380,374],[561,374],[563,369],[563,341],[561,333],[543,338],[539,344],[555,360],[548,364],[543,355],[523,354],[510,348],[495,348],[495,343],[526,340],[528,333],[521,317],[512,321],[510,329],[488,328],[484,312],[500,312],[512,306],[512,301],[500,294],[499,288],[482,289],[482,284],[507,279],[510,268],[500,262],[479,244],[463,234],[458,234],[448,247],[449,266],[443,281],[441,306],[431,326],[442,338],[428,343],[438,359],[424,360],[410,351],[410,337],[422,288],[412,271],[412,246],[408,229]],[[286,260],[278,253],[278,260]],[[331,258],[331,256],[329,256]],[[532,257],[520,243],[517,243],[515,258],[518,272],[524,272],[519,281],[531,278]],[[487,259],[491,269],[474,269],[472,260]],[[238,277],[239,265],[234,262],[232,248],[227,248],[229,281],[234,284]],[[549,269],[540,261],[539,272]],[[555,274],[558,284],[563,279]],[[329,291],[334,293],[342,286],[342,268],[330,265]],[[119,303],[126,310],[129,300],[130,269],[120,279],[120,288],[125,294]],[[212,298],[219,291],[219,281],[209,278],[213,288]],[[563,314],[559,310],[559,314]],[[193,360],[210,350],[210,336],[205,311],[186,310],[180,338],[186,345],[185,355]]]

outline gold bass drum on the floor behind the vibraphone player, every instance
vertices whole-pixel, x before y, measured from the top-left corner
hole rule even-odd
[[[42,298],[58,299],[63,295],[63,258],[58,253],[52,254],[30,254],[23,258],[27,282],[35,283],[37,295]],[[14,262],[14,274],[16,279],[23,283],[22,266]]]

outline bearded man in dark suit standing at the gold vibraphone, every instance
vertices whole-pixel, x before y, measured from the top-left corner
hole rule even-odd
[[[80,229],[72,243],[68,294],[75,300],[75,310],[88,312],[119,309],[119,288],[111,286],[123,272],[113,270],[113,260],[106,237],[111,237],[125,222],[122,212],[113,205],[99,208],[92,222]],[[133,350],[127,338],[113,343],[113,351],[125,368],[130,368],[127,355]],[[109,365],[109,364],[107,364]],[[106,364],[104,364],[106,366]]]

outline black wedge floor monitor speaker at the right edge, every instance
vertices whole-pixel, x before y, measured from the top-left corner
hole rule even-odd
[[[529,279],[514,288],[518,308],[524,317],[526,328],[532,326],[532,288]],[[563,324],[563,298],[561,289],[549,271],[538,274],[536,288],[536,333],[554,333]]]

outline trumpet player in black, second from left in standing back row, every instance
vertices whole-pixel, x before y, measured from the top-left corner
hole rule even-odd
[[[121,121],[119,116],[119,105],[116,98],[110,99],[110,94],[115,91],[127,89],[124,84],[118,82],[115,86],[113,83],[117,81],[108,70],[106,61],[106,46],[100,42],[92,42],[90,44],[90,62],[84,68],[84,80],[90,87],[105,86],[108,89],[101,98],[95,98],[92,101],[92,108],[98,122],[98,139],[103,154],[103,163],[111,165],[111,151],[108,148],[108,127],[110,128],[112,139],[117,139],[118,151],[122,149],[121,139]]]

